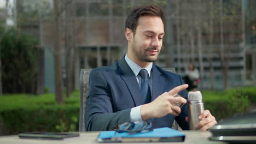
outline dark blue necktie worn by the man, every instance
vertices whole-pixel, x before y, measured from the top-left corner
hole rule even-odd
[[[150,103],[151,101],[151,93],[148,83],[148,71],[146,69],[141,69],[139,71],[139,75],[141,75],[141,96],[144,100],[144,104]]]

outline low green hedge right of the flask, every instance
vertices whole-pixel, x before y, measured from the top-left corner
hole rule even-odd
[[[202,91],[205,109],[211,111],[217,121],[237,113],[251,111],[256,105],[256,88],[228,89],[222,92]]]

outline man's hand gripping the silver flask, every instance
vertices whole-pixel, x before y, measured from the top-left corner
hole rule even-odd
[[[189,121],[188,117],[185,119],[186,121]],[[212,116],[209,110],[205,110],[199,115],[199,122],[195,125],[195,128],[200,130],[208,130],[215,124],[217,124],[215,117]]]

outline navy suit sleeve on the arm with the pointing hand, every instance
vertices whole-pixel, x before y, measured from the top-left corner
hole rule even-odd
[[[113,112],[112,95],[104,75],[93,69],[89,78],[89,91],[85,106],[86,131],[117,129],[118,125],[130,122],[131,109]]]

